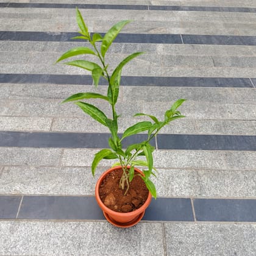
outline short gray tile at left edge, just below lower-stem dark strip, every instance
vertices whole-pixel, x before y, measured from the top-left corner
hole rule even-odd
[[[0,148],[0,165],[59,165],[61,149]]]

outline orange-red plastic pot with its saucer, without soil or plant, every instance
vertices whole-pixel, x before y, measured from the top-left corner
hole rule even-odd
[[[121,166],[115,166],[113,168],[110,168],[107,171],[105,171],[101,175],[101,177],[99,177],[98,182],[96,183],[96,187],[95,187],[96,201],[98,202],[99,207],[101,207],[101,210],[108,222],[110,222],[111,224],[113,224],[116,227],[132,227],[132,226],[136,225],[143,218],[145,210],[149,206],[151,199],[152,199],[152,195],[150,192],[148,194],[148,198],[147,198],[146,202],[137,210],[135,210],[133,212],[129,212],[129,213],[119,213],[119,212],[115,212],[115,211],[111,210],[110,208],[108,208],[107,206],[105,206],[103,204],[103,202],[101,201],[101,198],[99,197],[99,187],[102,183],[102,180],[104,180],[104,177],[107,176],[108,173],[115,171],[117,169],[120,169],[120,168],[121,168]],[[137,169],[137,168],[134,168],[134,169],[135,169],[135,171],[143,174],[143,172],[140,171],[139,169]]]

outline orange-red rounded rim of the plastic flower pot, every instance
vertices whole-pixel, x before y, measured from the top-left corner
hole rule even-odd
[[[127,167],[129,167],[129,166],[127,166]],[[104,177],[105,177],[109,172],[115,171],[115,170],[120,169],[120,168],[122,168],[122,166],[120,166],[120,165],[119,165],[119,166],[115,166],[115,167],[112,167],[112,168],[110,168],[110,169],[107,169],[107,171],[104,171],[104,172],[101,174],[101,176],[99,177],[99,179],[98,179],[98,181],[97,181],[97,183],[96,183],[96,187],[95,187],[96,201],[98,202],[99,207],[102,208],[102,211],[103,211],[103,212],[107,212],[107,213],[110,213],[110,214],[112,213],[112,214],[115,214],[115,215],[127,216],[127,217],[128,217],[128,216],[132,216],[132,215],[140,214],[141,212],[144,212],[144,211],[146,210],[146,208],[148,207],[148,205],[149,205],[150,202],[151,202],[152,194],[150,193],[150,191],[149,191],[149,194],[148,194],[148,198],[146,199],[146,201],[144,202],[144,204],[141,205],[141,207],[138,208],[137,210],[134,210],[134,211],[128,212],[128,213],[120,213],[120,212],[115,212],[115,211],[111,210],[110,208],[108,208],[107,206],[105,206],[105,205],[103,204],[103,202],[101,201],[101,198],[99,197],[99,186],[101,185],[101,182],[102,182],[102,180],[104,179]],[[134,167],[134,170],[137,171],[137,172],[140,172],[140,174],[144,175],[143,172],[142,172],[140,169]]]

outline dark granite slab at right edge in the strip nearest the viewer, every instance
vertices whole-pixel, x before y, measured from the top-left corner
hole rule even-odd
[[[194,199],[197,221],[256,221],[255,199]]]

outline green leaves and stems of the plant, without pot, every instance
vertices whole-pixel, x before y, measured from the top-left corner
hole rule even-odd
[[[180,114],[177,108],[185,101],[185,99],[179,99],[171,107],[166,110],[165,116],[162,121],[159,121],[155,116],[148,115],[145,113],[137,113],[135,116],[145,116],[149,118],[150,121],[141,121],[133,126],[128,127],[121,137],[118,136],[118,118],[116,113],[115,105],[118,101],[119,86],[121,81],[121,73],[124,66],[133,60],[135,57],[143,54],[144,52],[135,52],[130,54],[125,59],[123,59],[118,66],[113,70],[112,74],[108,74],[108,64],[105,63],[105,54],[110,48],[111,44],[118,36],[121,29],[123,29],[126,24],[130,23],[130,20],[119,21],[113,27],[108,30],[108,32],[102,37],[101,34],[91,35],[88,32],[88,27],[84,22],[84,19],[78,9],[76,9],[76,20],[79,26],[79,36],[74,37],[76,39],[81,39],[88,41],[91,44],[91,48],[88,47],[77,47],[69,49],[65,52],[57,62],[68,59],[70,57],[75,57],[78,55],[94,55],[98,58],[99,63],[94,63],[88,60],[79,59],[70,62],[65,62],[65,65],[77,66],[82,69],[86,69],[91,72],[93,77],[94,85],[97,87],[101,77],[108,82],[107,95],[99,93],[77,93],[73,94],[69,98],[65,99],[65,102],[74,102],[78,107],[80,107],[85,113],[91,116],[94,120],[98,121],[102,125],[108,127],[111,133],[111,137],[108,140],[108,145],[110,149],[102,149],[95,154],[93,163],[91,165],[91,172],[94,176],[96,168],[102,159],[116,159],[118,162],[115,165],[121,165],[123,168],[123,176],[120,180],[120,187],[129,189],[129,183],[132,181],[135,175],[134,167],[143,166],[143,175],[141,178],[144,180],[146,186],[151,192],[152,196],[156,197],[157,193],[155,190],[154,183],[150,180],[151,175],[156,176],[157,170],[154,168],[153,162],[153,152],[155,150],[154,146],[150,144],[152,138],[154,138],[157,133],[164,126],[169,124],[178,118],[183,118],[184,116]],[[100,44],[100,49],[98,45]],[[57,63],[56,62],[56,63]],[[104,111],[86,102],[87,99],[101,99],[107,101],[112,108],[112,116],[108,117]],[[122,142],[124,138],[135,135],[137,133],[147,132],[148,138],[146,141],[141,143],[130,144],[126,149],[123,149]]]

